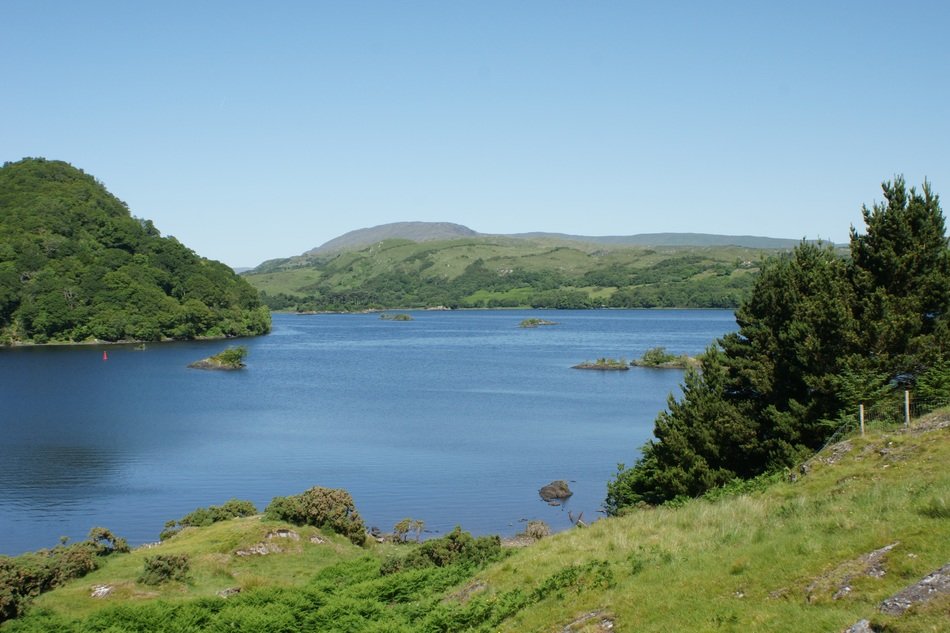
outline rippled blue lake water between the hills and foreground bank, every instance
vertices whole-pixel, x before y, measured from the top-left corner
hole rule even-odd
[[[512,535],[598,510],[682,372],[572,370],[662,345],[696,354],[720,310],[274,315],[240,372],[186,365],[233,342],[0,350],[0,553],[104,526],[139,544],[199,506],[346,488],[367,525]],[[518,327],[541,316],[558,325]],[[103,351],[108,360],[103,360]],[[538,488],[566,479],[564,507]]]

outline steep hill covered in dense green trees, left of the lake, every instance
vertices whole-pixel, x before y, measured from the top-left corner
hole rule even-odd
[[[154,341],[263,334],[270,314],[90,175],[28,158],[0,169],[0,340]]]

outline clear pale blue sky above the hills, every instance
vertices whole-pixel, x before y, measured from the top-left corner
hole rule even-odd
[[[0,160],[233,266],[404,220],[843,242],[895,174],[950,200],[948,7],[4,0]]]

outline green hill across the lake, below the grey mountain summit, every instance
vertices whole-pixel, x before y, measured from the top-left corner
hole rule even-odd
[[[628,246],[561,238],[388,238],[311,251],[245,273],[283,310],[733,308],[762,257],[737,246]]]

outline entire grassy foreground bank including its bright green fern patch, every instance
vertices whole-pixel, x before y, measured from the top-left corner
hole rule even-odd
[[[944,410],[909,431],[850,437],[784,475],[500,554],[461,534],[434,539],[427,555],[442,566],[419,562],[422,545],[358,547],[260,516],[185,527],[110,555],[3,631],[804,633],[864,619],[865,631],[944,630],[939,583],[907,610],[889,599],[950,562],[947,463]],[[471,555],[455,558],[452,543]],[[186,580],[137,580],[157,554],[187,557]]]

